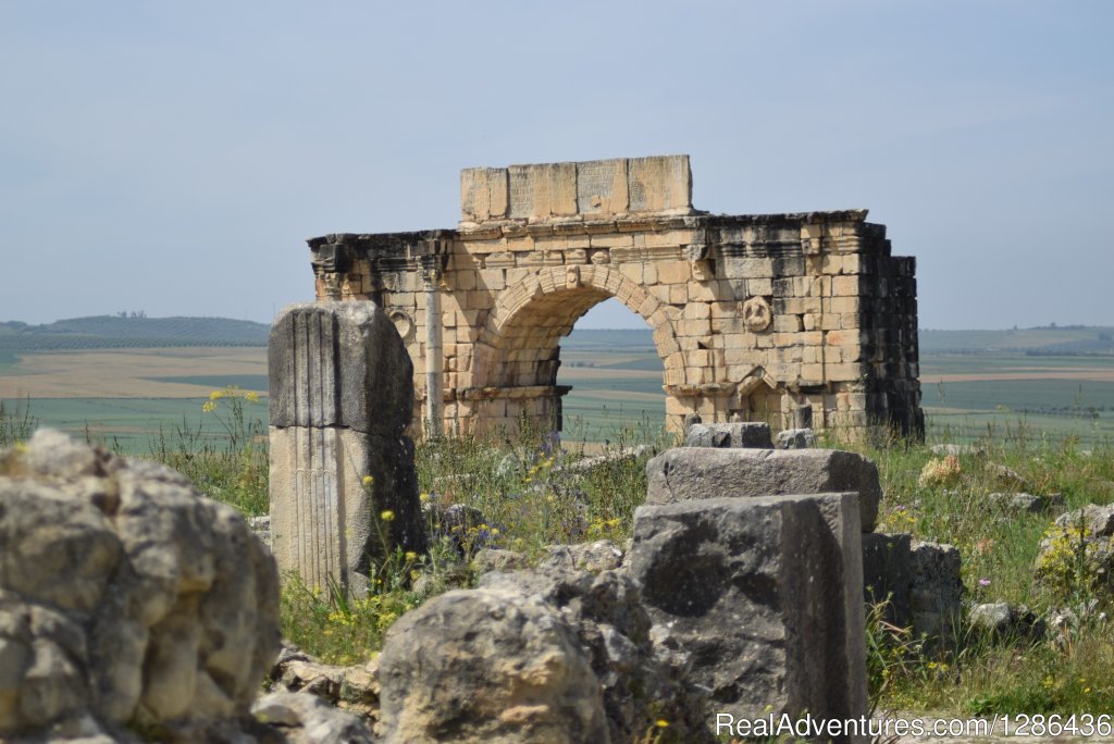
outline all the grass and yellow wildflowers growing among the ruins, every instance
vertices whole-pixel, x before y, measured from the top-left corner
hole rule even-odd
[[[206,403],[207,415],[224,428],[224,446],[179,427],[152,452],[211,497],[248,515],[267,508],[266,432],[243,414],[253,398],[228,388]],[[26,407],[0,409],[0,444],[25,439],[33,425]],[[382,560],[361,600],[343,597],[334,586],[304,587],[286,577],[285,636],[323,660],[355,664],[378,652],[404,611],[449,588],[472,586],[471,560],[481,547],[510,548],[538,560],[557,542],[606,538],[622,545],[645,493],[645,461],[668,441],[629,429],[612,439],[612,457],[595,467],[577,464],[583,450],[560,448],[539,432],[419,443],[430,554],[397,552]],[[885,492],[879,530],[956,546],[968,600],[1025,604],[1048,626],[1042,639],[1032,640],[990,637],[964,624],[967,629],[941,646],[887,625],[881,608],[872,608],[868,670],[877,705],[961,715],[1114,709],[1114,630],[1106,620],[1114,608],[1085,575],[1082,532],[1053,527],[1064,510],[1114,502],[1108,440],[1084,448],[1077,437],[1054,438],[1023,422],[988,428],[974,448],[952,456],[900,440],[839,446],[878,464]],[[1018,513],[990,497],[999,491],[1062,493],[1064,506]],[[436,515],[452,505],[482,517],[439,525]],[[1047,580],[1037,586],[1036,556],[1045,537],[1061,549],[1040,567]]]

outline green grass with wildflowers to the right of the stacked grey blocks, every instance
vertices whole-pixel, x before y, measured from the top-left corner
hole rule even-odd
[[[1114,608],[1086,576],[1078,530],[1053,526],[1063,511],[1114,502],[1111,442],[1081,449],[1076,437],[1053,439],[1020,423],[988,429],[971,449],[942,458],[900,441],[858,449],[881,476],[879,531],[956,546],[969,603],[1025,605],[1048,628],[1039,640],[997,638],[965,623],[951,644],[934,648],[888,626],[873,608],[868,666],[874,699],[895,709],[964,715],[1114,709],[1114,626],[1106,619]],[[1061,493],[1064,506],[1019,513],[991,498],[1009,491]],[[1038,584],[1045,537],[1061,549]]]

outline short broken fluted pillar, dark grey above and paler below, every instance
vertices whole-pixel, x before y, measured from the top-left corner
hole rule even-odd
[[[426,535],[403,435],[413,369],[372,302],[284,309],[271,329],[271,530],[281,571],[367,591],[372,562]]]

